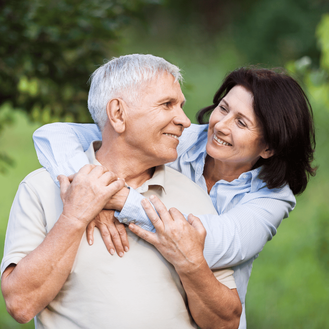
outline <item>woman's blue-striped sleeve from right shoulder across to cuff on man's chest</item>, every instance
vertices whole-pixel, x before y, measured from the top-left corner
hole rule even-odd
[[[276,234],[283,218],[295,206],[295,198],[288,187],[282,191],[253,194],[249,199],[236,205],[225,214],[198,215],[207,231],[204,257],[211,268],[235,266],[254,257],[262,251],[265,243]],[[115,217],[129,224],[134,221],[141,228],[155,232],[140,202],[144,197],[130,189],[127,200]],[[187,215],[184,214],[187,219]]]

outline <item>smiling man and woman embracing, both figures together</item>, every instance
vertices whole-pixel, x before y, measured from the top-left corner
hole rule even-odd
[[[96,124],[34,133],[43,168],[19,185],[1,263],[16,321],[246,328],[253,260],[315,175],[312,109],[283,69],[242,67],[191,124],[181,80],[114,58],[91,76]]]

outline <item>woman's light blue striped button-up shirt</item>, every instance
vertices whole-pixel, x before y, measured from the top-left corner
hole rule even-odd
[[[202,175],[206,158],[206,129],[207,125],[194,124],[185,129],[179,138],[178,158],[167,165],[207,191]],[[96,125],[77,123],[48,124],[33,135],[40,164],[58,185],[56,177],[59,174],[68,176],[89,163],[84,151],[92,140],[101,138]],[[198,216],[207,230],[204,256],[209,266],[213,269],[234,266],[234,278],[242,303],[240,329],[246,328],[244,303],[252,262],[265,243],[276,234],[282,219],[288,217],[296,203],[288,186],[267,189],[258,177],[260,170],[245,172],[232,182],[216,182],[210,197],[219,215]],[[154,230],[140,205],[142,198],[130,189],[122,211],[116,212],[116,216],[120,221],[127,218],[127,223],[134,220],[142,228]]]

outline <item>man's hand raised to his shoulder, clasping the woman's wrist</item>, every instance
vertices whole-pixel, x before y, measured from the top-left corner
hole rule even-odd
[[[68,177],[59,175],[63,215],[81,222],[82,225],[95,218],[110,198],[124,187],[124,180],[117,180],[116,175],[104,166],[86,164],[72,183]]]

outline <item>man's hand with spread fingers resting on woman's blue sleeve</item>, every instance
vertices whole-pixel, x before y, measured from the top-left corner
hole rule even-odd
[[[140,238],[152,243],[170,262],[178,274],[193,271],[205,263],[203,248],[206,230],[198,217],[190,214],[188,220],[176,208],[167,211],[158,197],[151,195],[150,200],[160,217],[146,200],[142,206],[156,229],[156,233],[145,231],[135,224],[129,229]]]

